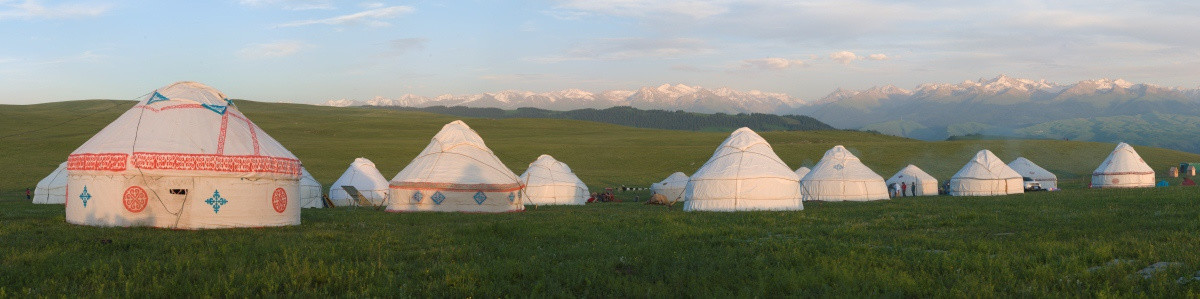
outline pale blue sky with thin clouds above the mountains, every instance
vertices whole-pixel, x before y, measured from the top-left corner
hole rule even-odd
[[[1200,1],[0,0],[0,103],[179,80],[328,100],[660,84],[784,92],[1008,74],[1200,86]]]

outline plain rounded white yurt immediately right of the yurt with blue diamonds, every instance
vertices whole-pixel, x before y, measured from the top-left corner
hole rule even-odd
[[[583,185],[566,163],[550,155],[538,156],[520,177],[524,184],[524,204],[557,205],[588,203],[588,186]]]

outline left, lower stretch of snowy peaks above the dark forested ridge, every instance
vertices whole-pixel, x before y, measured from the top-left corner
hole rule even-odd
[[[728,88],[706,89],[684,84],[662,84],[637,90],[607,90],[589,92],[566,89],[550,92],[505,90],[475,95],[442,95],[424,97],[403,95],[397,98],[376,97],[366,101],[331,100],[324,106],[466,106],[515,109],[534,107],[551,110],[608,108],[629,106],[640,109],[688,110],[700,113],[780,113],[803,106],[799,98],[786,94],[758,90],[739,91]]]

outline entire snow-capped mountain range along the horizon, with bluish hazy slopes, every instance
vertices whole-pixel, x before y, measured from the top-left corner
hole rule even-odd
[[[630,106],[697,113],[803,114],[839,128],[872,130],[919,139],[995,134],[1130,142],[1200,153],[1200,89],[1168,88],[1123,79],[1058,84],[998,76],[958,84],[930,83],[912,90],[893,85],[838,89],[815,101],[786,94],[664,84],[637,90],[588,92],[500,91],[367,101],[328,106],[467,106],[553,110]]]

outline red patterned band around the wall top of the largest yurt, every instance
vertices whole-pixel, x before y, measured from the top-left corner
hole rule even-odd
[[[125,171],[125,154],[76,154],[67,157],[67,169],[120,172]],[[142,169],[300,175],[300,160],[286,157],[133,153],[131,162]]]

